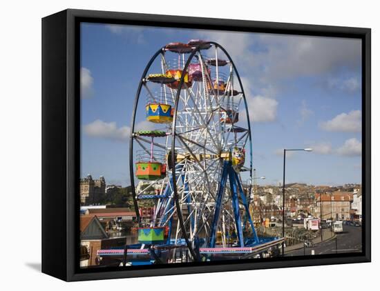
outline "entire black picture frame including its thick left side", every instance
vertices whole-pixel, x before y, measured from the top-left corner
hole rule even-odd
[[[79,269],[79,23],[348,37],[362,41],[363,252]],[[42,19],[42,272],[65,281],[362,263],[371,259],[371,30],[294,23],[64,10]]]

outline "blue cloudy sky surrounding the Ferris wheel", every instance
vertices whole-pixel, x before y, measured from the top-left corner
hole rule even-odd
[[[236,64],[260,185],[282,181],[284,148],[313,149],[287,152],[286,183],[361,183],[361,40],[96,23],[81,26],[81,177],[129,185],[142,71],[159,48],[189,39],[220,43]]]

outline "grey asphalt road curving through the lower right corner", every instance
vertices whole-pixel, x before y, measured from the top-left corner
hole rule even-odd
[[[336,248],[337,245],[337,248]],[[347,252],[361,252],[361,228],[349,225],[343,225],[343,232],[336,234],[336,239],[317,243],[310,248],[301,248],[285,252],[285,256],[303,256],[312,254],[336,254]],[[304,252],[305,251],[305,252]]]

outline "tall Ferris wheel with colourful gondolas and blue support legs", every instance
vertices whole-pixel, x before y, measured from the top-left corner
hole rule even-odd
[[[137,88],[131,132],[141,243],[184,245],[194,261],[200,247],[259,243],[249,213],[249,112],[225,48],[191,40],[155,52]]]

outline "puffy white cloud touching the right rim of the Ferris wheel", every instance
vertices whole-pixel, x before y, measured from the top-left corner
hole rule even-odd
[[[247,97],[249,119],[253,122],[276,120],[278,102],[275,99],[256,96]]]

